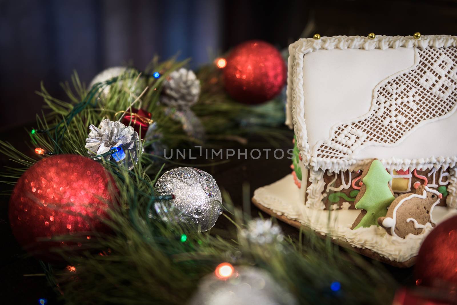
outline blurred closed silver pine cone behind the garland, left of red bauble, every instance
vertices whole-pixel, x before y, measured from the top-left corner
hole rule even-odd
[[[192,70],[181,68],[173,71],[164,82],[160,102],[178,109],[197,103],[200,96],[200,80]]]

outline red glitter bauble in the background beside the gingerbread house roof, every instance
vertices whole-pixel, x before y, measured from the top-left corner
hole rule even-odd
[[[260,104],[278,95],[286,83],[286,63],[268,42],[248,41],[235,47],[224,68],[228,94],[245,104]]]

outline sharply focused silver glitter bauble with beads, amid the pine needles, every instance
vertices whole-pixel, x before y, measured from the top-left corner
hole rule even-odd
[[[210,230],[222,214],[222,196],[213,176],[197,168],[178,167],[156,182],[159,195],[175,195],[170,204],[198,231]]]

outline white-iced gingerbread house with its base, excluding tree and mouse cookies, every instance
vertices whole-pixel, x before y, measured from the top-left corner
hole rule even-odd
[[[430,211],[436,222],[456,214],[457,37],[315,36],[289,53],[286,124],[300,161],[253,201],[363,254],[411,265],[432,226],[406,238],[379,226],[353,230],[354,202],[362,169],[377,158],[395,197],[425,185],[441,194]]]

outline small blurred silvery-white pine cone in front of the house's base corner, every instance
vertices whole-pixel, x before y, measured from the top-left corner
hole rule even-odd
[[[270,219],[249,221],[247,229],[241,231],[241,236],[257,244],[281,242],[284,239],[281,228]]]

